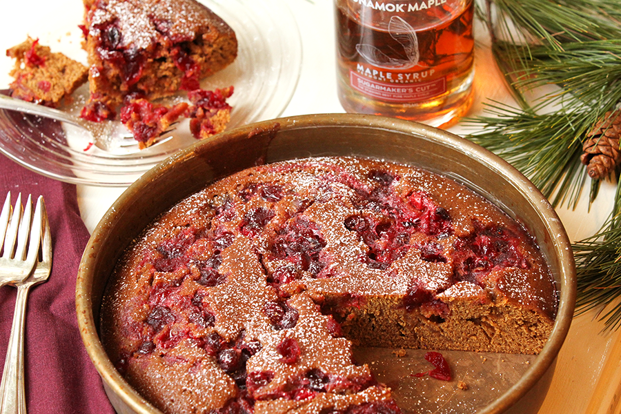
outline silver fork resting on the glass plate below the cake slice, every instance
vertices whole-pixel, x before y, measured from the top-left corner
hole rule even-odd
[[[67,124],[86,130],[92,136],[93,144],[106,152],[132,154],[140,151],[138,141],[134,139],[132,133],[125,128],[123,124],[117,121],[87,121],[86,119],[76,117],[68,112],[37,105],[37,103],[22,101],[21,99],[15,99],[2,94],[0,94],[0,108],[56,119],[57,121],[66,122]],[[167,134],[168,132],[170,132],[170,130],[166,130],[162,133]],[[171,138],[172,135],[160,137],[152,146],[162,144]]]

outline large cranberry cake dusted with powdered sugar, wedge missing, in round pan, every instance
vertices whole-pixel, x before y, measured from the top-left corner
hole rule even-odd
[[[130,246],[101,335],[165,413],[400,413],[351,347],[538,353],[558,306],[523,228],[454,181],[371,159],[257,166]]]

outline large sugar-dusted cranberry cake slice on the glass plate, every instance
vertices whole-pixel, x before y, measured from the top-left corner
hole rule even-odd
[[[195,0],[85,0],[84,6],[87,118],[114,117],[130,93],[152,100],[198,89],[237,57],[233,29]]]

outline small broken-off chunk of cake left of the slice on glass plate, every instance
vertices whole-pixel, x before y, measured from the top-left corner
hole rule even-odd
[[[52,52],[39,39],[26,41],[6,51],[15,59],[10,75],[10,96],[57,108],[86,82],[88,68],[59,52]]]

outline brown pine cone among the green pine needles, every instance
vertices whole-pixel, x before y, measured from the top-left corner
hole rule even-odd
[[[592,179],[602,179],[621,164],[621,110],[606,112],[587,132],[582,144],[584,153],[580,157],[586,165],[586,172]]]

